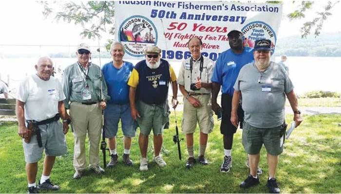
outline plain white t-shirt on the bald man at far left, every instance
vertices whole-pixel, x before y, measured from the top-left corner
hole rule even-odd
[[[26,120],[42,121],[58,113],[58,102],[65,99],[57,78],[42,80],[36,74],[19,83],[16,98],[24,102]]]

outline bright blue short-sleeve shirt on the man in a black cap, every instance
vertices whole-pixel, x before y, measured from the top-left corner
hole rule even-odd
[[[222,93],[233,96],[233,86],[239,71],[247,63],[253,62],[253,49],[245,47],[243,53],[235,54],[231,49],[221,53],[215,62],[212,82],[222,85]]]

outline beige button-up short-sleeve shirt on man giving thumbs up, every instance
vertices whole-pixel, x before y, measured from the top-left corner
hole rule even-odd
[[[201,58],[198,60],[193,59],[193,64],[192,64],[192,72],[190,72],[190,59],[187,58],[182,62],[182,65],[180,67],[179,71],[179,76],[177,79],[177,83],[179,85],[185,86],[185,90],[187,92],[195,92],[195,93],[201,93],[201,94],[210,94],[211,89],[206,89],[206,88],[200,88],[199,90],[192,91],[190,90],[190,84],[195,83],[198,81],[198,77],[200,78],[200,63],[201,63]],[[201,82],[204,83],[210,83],[212,74],[213,74],[213,69],[214,69],[214,62],[206,57],[203,57],[203,70],[201,72]]]

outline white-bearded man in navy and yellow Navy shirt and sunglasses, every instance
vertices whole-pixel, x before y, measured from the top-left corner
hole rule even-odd
[[[176,107],[177,83],[173,68],[161,58],[161,49],[149,46],[143,49],[145,60],[138,62],[129,78],[131,114],[140,128],[138,144],[141,152],[140,171],[148,170],[148,136],[153,130],[153,161],[160,167],[167,164],[160,155],[163,130],[169,127],[168,87],[171,82],[172,106]]]

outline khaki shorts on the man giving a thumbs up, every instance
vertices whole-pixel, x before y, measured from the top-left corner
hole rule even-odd
[[[199,123],[200,132],[209,134],[214,127],[213,111],[211,110],[211,95],[193,96],[201,103],[201,107],[193,107],[184,97],[184,114],[182,118],[182,133],[192,134],[195,131],[196,123]]]

